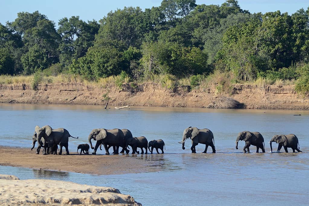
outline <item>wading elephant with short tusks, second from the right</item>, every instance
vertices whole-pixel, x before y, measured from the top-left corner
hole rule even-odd
[[[246,142],[245,146],[243,147],[243,153],[246,153],[247,151],[248,153],[250,153],[249,150],[250,145],[256,146],[256,153],[259,153],[259,148],[261,148],[262,152],[265,153],[264,138],[259,132],[249,132],[249,131],[240,132],[235,142],[236,150],[238,150],[238,142],[242,140]]]

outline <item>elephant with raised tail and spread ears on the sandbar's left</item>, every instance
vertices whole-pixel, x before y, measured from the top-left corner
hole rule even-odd
[[[64,146],[66,148],[66,155],[69,155],[69,149],[68,149],[68,142],[69,137],[78,139],[78,137],[73,137],[70,135],[68,130],[64,128],[58,128],[58,129],[52,129],[49,125],[39,127],[35,127],[35,133],[36,133],[36,141],[40,146],[43,146],[43,142],[41,141],[41,138],[43,137],[45,142],[49,146],[49,151],[53,151],[53,145],[59,145],[59,155],[62,155],[62,147]],[[57,152],[57,150],[56,150]],[[46,151],[43,155],[47,155]]]

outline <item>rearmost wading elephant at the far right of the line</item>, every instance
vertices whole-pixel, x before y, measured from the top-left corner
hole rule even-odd
[[[286,152],[288,152],[288,147],[292,148],[293,153],[295,152],[295,150],[297,150],[298,152],[302,152],[299,150],[299,143],[298,143],[298,138],[296,137],[295,134],[288,134],[288,135],[284,135],[284,134],[280,134],[280,135],[274,135],[273,138],[270,140],[270,149],[273,152],[273,147],[272,147],[272,142],[276,142],[278,143],[278,149],[277,152],[279,152],[283,146],[284,150]],[[298,145],[298,148],[297,148]]]

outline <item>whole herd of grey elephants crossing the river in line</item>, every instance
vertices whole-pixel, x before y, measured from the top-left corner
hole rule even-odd
[[[66,155],[69,155],[69,149],[68,149],[68,142],[69,137],[72,137],[68,130],[64,128],[58,128],[58,129],[52,129],[49,125],[39,127],[35,127],[35,132],[32,137],[32,148],[35,147],[35,143],[38,142],[38,146],[36,149],[36,154],[40,153],[40,148],[43,147],[43,155],[47,154],[54,154],[57,155],[57,149],[59,145],[59,155],[62,154],[62,147],[64,146],[66,148]],[[75,137],[72,137],[75,138]],[[78,137],[77,137],[78,138]],[[192,153],[196,153],[195,146],[200,144],[205,144],[205,150],[203,153],[207,152],[208,146],[211,146],[212,152],[216,153],[216,148],[214,146],[214,134],[209,129],[198,129],[197,127],[188,127],[184,130],[182,141],[178,142],[182,144],[182,149],[184,150],[184,142],[186,139],[190,138],[192,141],[191,150]],[[94,139],[96,141],[95,147],[92,146],[91,139]],[[90,143],[90,146],[88,144],[80,144],[77,147],[77,152],[80,149],[80,154],[82,152],[84,154],[89,154],[89,149],[93,149],[92,154],[96,154],[97,149],[101,145],[105,148],[105,154],[109,155],[109,148],[113,147],[113,154],[119,154],[119,147],[122,147],[122,150],[120,153],[126,152],[126,154],[129,153],[129,146],[132,148],[132,154],[138,153],[137,148],[141,148],[142,152],[141,154],[144,154],[143,148],[145,148],[145,154],[147,154],[147,148],[149,151],[151,151],[151,154],[153,152],[153,149],[155,148],[157,153],[159,154],[158,149],[162,151],[162,154],[164,153],[163,147],[165,149],[165,144],[162,139],[159,140],[152,140],[150,142],[147,141],[145,137],[133,137],[130,130],[127,129],[93,129],[91,133],[89,134],[88,141]],[[264,144],[264,138],[259,132],[249,132],[249,131],[243,131],[240,132],[236,138],[236,149],[238,149],[238,142],[244,141],[246,144],[243,147],[243,152],[250,152],[249,146],[253,145],[256,146],[256,152],[259,152],[259,149],[262,150],[262,152],[265,152],[265,144]],[[274,135],[273,138],[270,140],[270,148],[271,151],[273,151],[272,148],[272,142],[278,143],[278,149],[277,152],[280,151],[280,149],[284,148],[286,152],[288,152],[287,148],[292,148],[293,152],[297,150],[298,152],[302,152],[299,150],[299,143],[298,138],[294,134],[288,134],[288,135]],[[263,145],[264,144],[264,145]],[[151,147],[151,149],[150,149]],[[101,149],[102,150],[102,149]]]

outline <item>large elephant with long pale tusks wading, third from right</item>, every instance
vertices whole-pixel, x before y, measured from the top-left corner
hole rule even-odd
[[[198,129],[197,127],[188,127],[184,130],[184,135],[182,137],[182,141],[178,142],[182,144],[182,149],[184,150],[184,142],[191,138],[192,140],[192,146],[191,151],[192,153],[196,153],[195,146],[198,145],[198,143],[205,144],[205,150],[203,153],[207,153],[208,146],[211,146],[213,153],[216,153],[216,147],[214,146],[214,134],[209,129]]]

